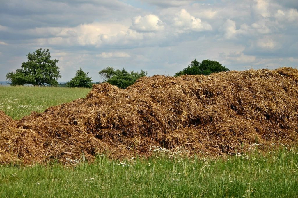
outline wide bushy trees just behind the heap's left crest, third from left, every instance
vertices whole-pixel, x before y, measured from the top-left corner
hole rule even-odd
[[[147,72],[141,70],[139,72],[127,72],[124,68],[122,70],[114,70],[113,67],[107,67],[98,73],[104,78],[104,82],[116,85],[119,88],[125,89],[126,87],[134,84],[134,82],[143,76],[147,76]]]

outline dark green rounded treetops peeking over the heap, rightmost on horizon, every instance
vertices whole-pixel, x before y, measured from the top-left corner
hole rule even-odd
[[[215,72],[228,71],[229,69],[225,66],[222,66],[219,62],[214,60],[203,60],[201,63],[195,59],[188,65],[188,67],[184,68],[182,71],[179,71],[175,74],[175,76],[181,75],[210,75]]]

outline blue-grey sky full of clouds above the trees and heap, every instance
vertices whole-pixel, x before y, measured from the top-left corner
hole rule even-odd
[[[297,0],[0,0],[0,81],[49,49],[69,81],[80,67],[174,75],[213,59],[230,70],[298,66]],[[298,68],[298,67],[297,67]]]

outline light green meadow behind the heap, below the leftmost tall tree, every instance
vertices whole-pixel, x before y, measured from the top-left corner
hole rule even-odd
[[[32,111],[43,112],[50,106],[85,98],[90,90],[88,88],[0,86],[0,110],[17,120]]]

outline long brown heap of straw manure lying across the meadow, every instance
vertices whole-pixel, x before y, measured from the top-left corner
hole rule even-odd
[[[297,84],[298,70],[279,68],[142,77],[127,89],[93,85],[86,98],[21,120],[0,111],[0,162],[149,156],[151,146],[221,155],[256,141],[296,144]]]

